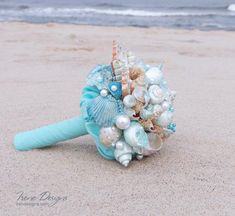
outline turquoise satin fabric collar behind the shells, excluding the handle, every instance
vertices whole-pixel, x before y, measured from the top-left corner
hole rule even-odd
[[[87,114],[87,104],[90,100],[99,96],[99,89],[95,86],[86,86],[83,89],[82,97],[80,100],[80,107],[82,110],[83,118],[85,119],[85,127],[88,133],[94,138],[96,147],[99,153],[108,160],[114,160],[114,148],[113,147],[106,147],[100,142],[99,134],[100,134],[100,126],[95,124],[89,119]]]

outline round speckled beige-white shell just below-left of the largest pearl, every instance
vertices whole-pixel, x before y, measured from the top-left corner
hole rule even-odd
[[[122,131],[115,126],[100,129],[100,142],[108,147],[116,143],[122,136]]]

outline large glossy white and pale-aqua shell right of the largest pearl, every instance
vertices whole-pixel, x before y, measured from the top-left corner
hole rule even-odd
[[[125,141],[130,146],[135,147],[134,149],[142,149],[149,145],[148,136],[144,128],[136,121],[132,121],[130,127],[124,130],[123,134]]]

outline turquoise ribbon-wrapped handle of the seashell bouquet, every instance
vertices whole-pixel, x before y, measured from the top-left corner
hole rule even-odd
[[[88,134],[82,116],[16,134],[14,145],[26,151],[55,145],[69,139]]]

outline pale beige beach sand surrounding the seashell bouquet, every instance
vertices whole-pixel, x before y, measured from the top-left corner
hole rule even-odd
[[[19,131],[77,116],[86,75],[118,39],[164,63],[177,91],[177,133],[129,168],[103,159],[91,137],[15,151]],[[235,33],[0,24],[0,215],[234,215]],[[67,196],[19,206],[17,192]]]

